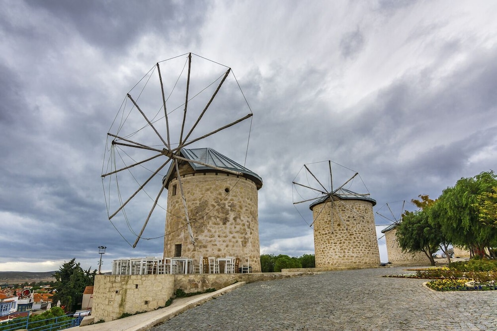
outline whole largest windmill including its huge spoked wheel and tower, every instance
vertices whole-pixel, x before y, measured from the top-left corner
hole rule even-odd
[[[236,256],[260,270],[262,180],[212,148],[192,147],[224,145],[240,157],[248,141],[237,143],[238,129],[251,116],[231,68],[191,53],[157,63],[127,93],[108,133],[102,179],[109,220],[130,246],[164,237],[166,257]],[[156,209],[165,211],[164,235]],[[155,230],[146,231],[149,222]]]

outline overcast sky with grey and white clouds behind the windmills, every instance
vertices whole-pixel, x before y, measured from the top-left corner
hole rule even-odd
[[[102,164],[126,94],[157,62],[183,55],[181,69],[189,52],[194,64],[231,67],[253,113],[215,147],[264,181],[261,253],[314,253],[309,215],[293,205],[304,164],[358,172],[385,215],[386,203],[400,213],[400,201],[497,170],[495,1],[1,4],[0,270],[50,271],[72,258],[97,268],[101,245],[104,270],[162,255],[164,210],[147,227],[159,238],[131,248],[143,215],[128,215],[132,230],[110,223]],[[205,128],[220,125],[219,109]]]

